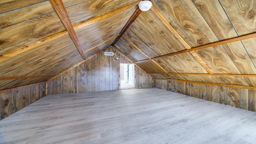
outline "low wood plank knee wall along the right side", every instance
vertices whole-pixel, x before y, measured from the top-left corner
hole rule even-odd
[[[159,79],[154,87],[256,112],[256,90]]]

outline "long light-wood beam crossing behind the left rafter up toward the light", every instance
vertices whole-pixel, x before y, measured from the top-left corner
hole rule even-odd
[[[85,26],[88,26],[88,25],[90,25],[90,24],[93,24],[94,22],[98,22],[98,21],[100,21],[100,20],[102,20],[102,19],[104,19],[104,18],[108,18],[108,17],[110,17],[110,16],[113,16],[114,14],[117,14],[117,13],[119,13],[119,12],[122,12],[122,11],[124,11],[124,10],[127,10],[128,8],[131,8],[132,6],[136,6],[139,2],[140,2],[140,1],[133,2],[132,4],[129,4],[129,5],[127,5],[127,6],[123,6],[123,7],[121,7],[121,8],[116,9],[116,10],[112,10],[111,12],[108,12],[108,13],[103,14],[103,15],[101,15],[101,16],[97,16],[97,17],[95,17],[95,18],[90,18],[90,19],[88,19],[88,20],[86,20],[86,21],[84,21],[84,22],[82,22],[82,23],[75,24],[75,25],[74,25],[74,30],[83,28],[83,27],[85,27]],[[40,46],[40,45],[42,45],[42,44],[45,44],[45,43],[47,43],[47,42],[50,42],[50,41],[53,41],[53,40],[58,40],[58,38],[60,38],[60,37],[63,36],[64,34],[68,34],[68,31],[65,30],[65,31],[63,31],[63,32],[60,32],[60,33],[58,33],[58,34],[54,34],[54,35],[49,36],[49,37],[47,37],[47,38],[44,38],[44,39],[42,39],[42,40],[38,40],[38,41],[33,42],[33,43],[31,43],[31,44],[28,44],[28,45],[26,45],[26,46],[22,46],[22,47],[20,47],[20,48],[17,48],[17,49],[15,49],[15,50],[12,50],[12,51],[7,52],[7,53],[5,53],[5,54],[1,54],[1,55],[0,55],[0,62],[3,61],[3,60],[7,60],[8,58],[12,58],[12,57],[14,57],[14,56],[16,56],[16,55],[18,55],[18,54],[21,54],[21,53],[23,53],[23,52],[26,52],[26,51],[28,51],[28,50],[31,50],[31,49],[33,49],[33,48],[36,48],[36,47],[38,47],[38,46]]]

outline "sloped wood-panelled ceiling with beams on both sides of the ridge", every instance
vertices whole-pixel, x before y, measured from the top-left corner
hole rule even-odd
[[[0,90],[48,81],[114,44],[153,78],[256,87],[255,0],[0,1]],[[120,34],[120,35],[119,35]]]

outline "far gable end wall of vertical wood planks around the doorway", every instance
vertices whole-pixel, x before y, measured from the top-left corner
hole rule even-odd
[[[118,63],[129,61],[113,48],[106,52],[114,52],[114,56],[101,52],[48,82],[48,95],[118,90]],[[136,66],[135,69],[136,88],[152,87],[152,78]]]

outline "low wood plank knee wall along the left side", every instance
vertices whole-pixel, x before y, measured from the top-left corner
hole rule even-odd
[[[0,120],[46,96],[46,84],[0,94]]]

